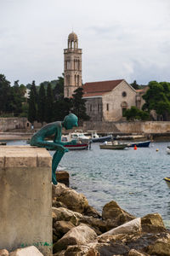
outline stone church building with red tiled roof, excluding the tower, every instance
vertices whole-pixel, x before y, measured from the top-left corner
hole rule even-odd
[[[111,84],[111,82],[113,83]],[[95,82],[93,93],[88,91],[87,84],[84,84],[85,93],[83,98],[86,99],[87,113],[93,121],[120,120],[124,110],[136,106],[136,90],[127,84],[124,79],[117,80],[117,82],[116,80]],[[93,87],[94,84],[90,84]],[[109,88],[109,91],[105,92],[106,87]]]

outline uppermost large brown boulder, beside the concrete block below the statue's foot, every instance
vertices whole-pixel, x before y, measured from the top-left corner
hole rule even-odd
[[[53,186],[53,197],[72,211],[83,213],[88,209],[87,198],[83,194],[77,193],[74,189],[67,188],[64,184],[58,183]]]

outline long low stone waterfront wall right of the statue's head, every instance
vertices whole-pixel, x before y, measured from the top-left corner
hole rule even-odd
[[[84,122],[83,131],[113,133],[167,133],[170,132],[170,122]]]

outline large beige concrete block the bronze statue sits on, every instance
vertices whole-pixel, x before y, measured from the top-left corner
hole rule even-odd
[[[0,249],[52,253],[51,156],[45,148],[0,147]]]

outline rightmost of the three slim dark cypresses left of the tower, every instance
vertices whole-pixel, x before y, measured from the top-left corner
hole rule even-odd
[[[45,113],[45,120],[47,123],[52,122],[53,115],[54,115],[54,95],[53,90],[51,88],[51,84],[48,83],[47,89],[47,98],[46,98],[46,113]]]

